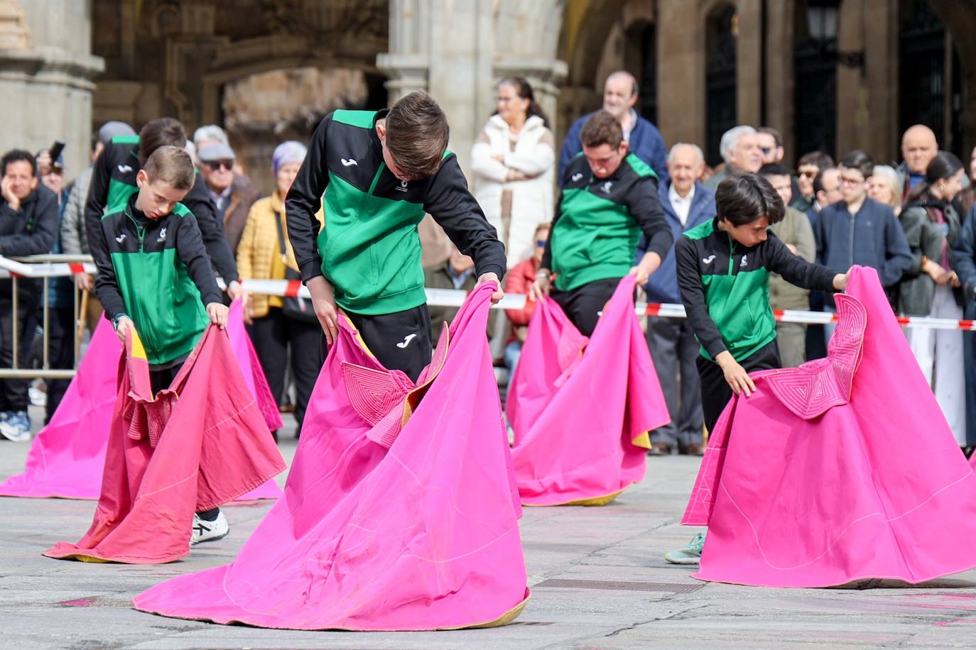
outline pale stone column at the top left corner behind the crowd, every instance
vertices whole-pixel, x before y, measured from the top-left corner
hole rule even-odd
[[[69,178],[88,166],[92,79],[103,69],[91,55],[91,12],[91,0],[0,0],[0,150],[62,139]]]

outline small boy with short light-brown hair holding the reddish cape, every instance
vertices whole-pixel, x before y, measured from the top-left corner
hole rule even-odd
[[[121,210],[105,214],[92,238],[95,290],[119,339],[139,332],[153,393],[167,388],[210,323],[224,327],[227,307],[193,213],[180,202],[193,186],[193,163],[174,146],[156,149]],[[219,509],[198,513],[191,544],[229,531]]]

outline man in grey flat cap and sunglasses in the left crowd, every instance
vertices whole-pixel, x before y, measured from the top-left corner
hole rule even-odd
[[[200,175],[224,225],[224,237],[235,254],[258,191],[247,176],[234,172],[234,151],[224,142],[209,142],[197,149]]]

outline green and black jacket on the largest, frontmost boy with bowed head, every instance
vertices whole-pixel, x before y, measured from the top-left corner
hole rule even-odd
[[[505,247],[447,152],[440,168],[402,181],[376,134],[386,111],[337,110],[322,120],[288,192],[288,236],[307,283],[324,275],[346,312],[375,316],[427,302],[417,225],[425,212],[474,259],[476,275],[505,274]],[[323,196],[324,195],[324,196]],[[325,204],[325,226],[315,212]]]

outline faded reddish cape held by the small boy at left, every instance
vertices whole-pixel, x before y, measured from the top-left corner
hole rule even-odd
[[[92,527],[49,557],[158,564],[189,552],[193,513],[236,499],[285,469],[224,330],[209,325],[169,388],[149,388],[129,335]]]

